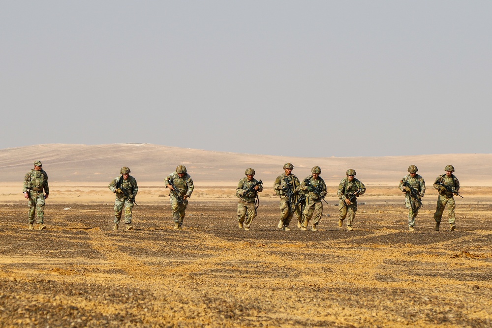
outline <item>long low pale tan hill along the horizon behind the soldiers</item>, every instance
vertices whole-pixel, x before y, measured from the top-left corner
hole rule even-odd
[[[300,179],[311,167],[321,167],[327,184],[338,184],[348,168],[357,171],[365,183],[395,185],[415,164],[427,183],[452,164],[463,185],[492,185],[492,154],[439,154],[385,157],[286,157],[183,149],[152,144],[65,145],[48,144],[0,149],[0,175],[3,182],[22,181],[35,160],[43,162],[50,181],[109,182],[128,166],[140,183],[161,183],[178,164],[184,164],[200,185],[234,184],[244,177],[246,168],[255,178],[273,181],[283,172],[285,162],[294,165]]]

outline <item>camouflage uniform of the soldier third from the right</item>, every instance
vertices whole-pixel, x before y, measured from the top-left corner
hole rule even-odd
[[[352,169],[350,169],[352,170]],[[353,170],[352,170],[353,171]],[[349,171],[347,171],[349,172]],[[355,175],[355,171],[354,175]],[[338,226],[341,227],[343,224],[343,220],[347,217],[347,230],[352,230],[352,225],[354,223],[355,219],[355,212],[357,212],[357,198],[352,202],[351,205],[347,205],[345,203],[345,200],[349,198],[350,193],[357,192],[357,190],[360,190],[360,193],[357,196],[360,196],[366,192],[366,186],[364,183],[359,181],[358,179],[354,179],[352,181],[348,180],[348,177],[345,179],[342,179],[340,181],[340,184],[338,185],[338,212],[339,212],[339,221],[338,221]]]

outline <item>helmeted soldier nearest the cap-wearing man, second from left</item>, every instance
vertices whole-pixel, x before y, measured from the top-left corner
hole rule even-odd
[[[116,194],[115,200],[115,226],[113,230],[118,230],[120,220],[122,218],[123,208],[124,208],[124,224],[126,230],[132,230],[131,225],[131,209],[133,208],[133,203],[135,202],[135,196],[138,192],[137,180],[130,176],[130,169],[123,166],[120,170],[120,177],[109,182],[109,190]]]

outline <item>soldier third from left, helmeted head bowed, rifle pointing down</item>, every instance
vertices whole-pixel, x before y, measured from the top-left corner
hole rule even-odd
[[[173,229],[181,230],[185,210],[188,207],[188,198],[191,197],[191,193],[195,188],[193,186],[193,180],[186,173],[186,167],[184,165],[178,165],[176,172],[167,176],[165,182],[167,183],[166,188],[171,189],[169,199],[173,211]]]

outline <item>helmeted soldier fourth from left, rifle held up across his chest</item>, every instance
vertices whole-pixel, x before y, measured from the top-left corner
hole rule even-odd
[[[246,178],[239,180],[236,196],[238,202],[238,222],[239,229],[247,231],[251,227],[253,219],[256,217],[255,201],[258,199],[258,193],[263,191],[261,180],[254,179],[254,170],[246,169]]]

